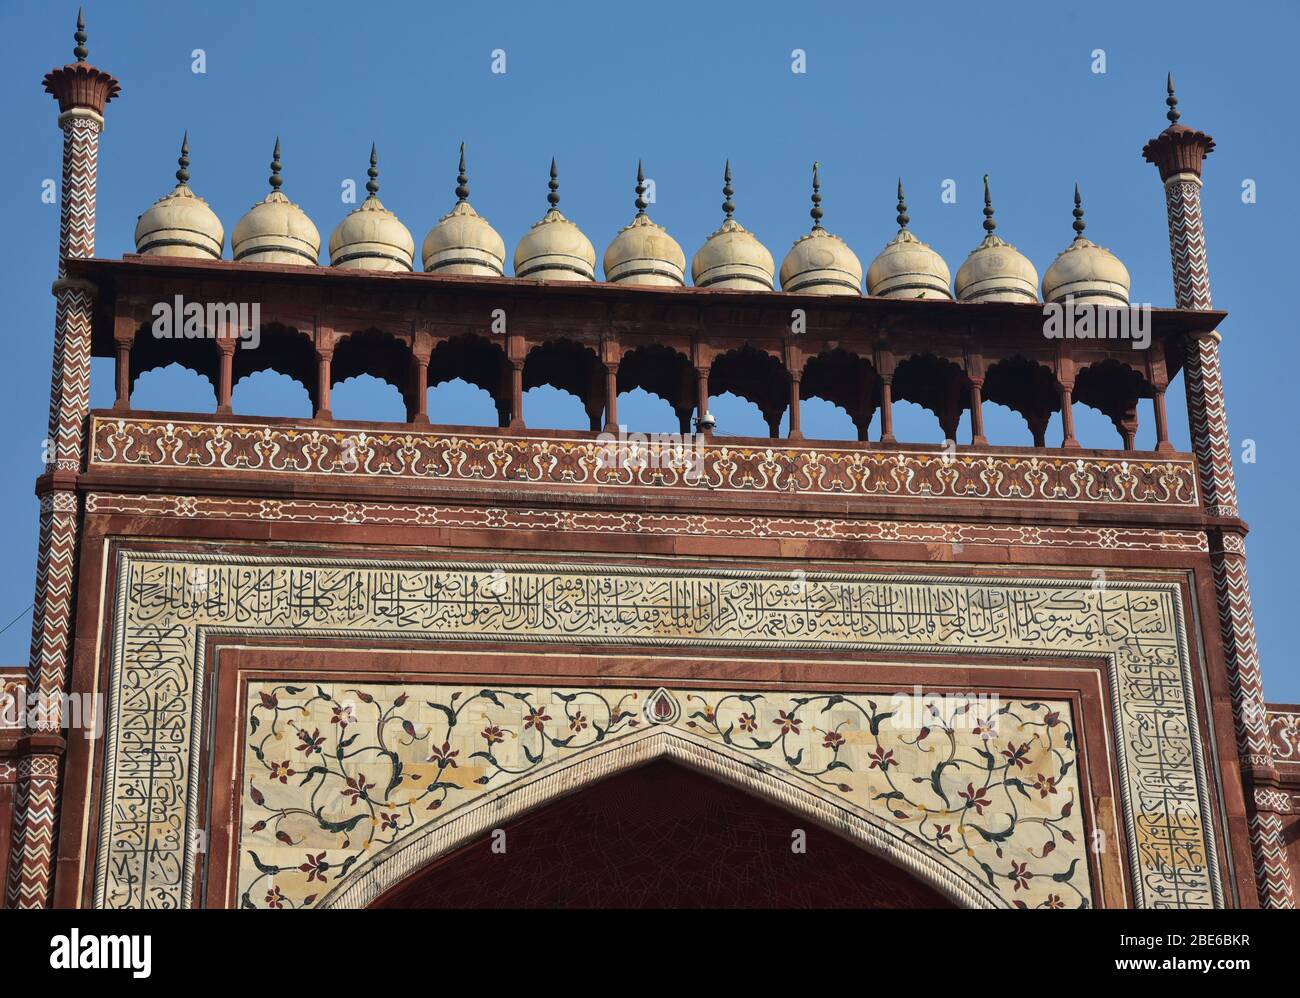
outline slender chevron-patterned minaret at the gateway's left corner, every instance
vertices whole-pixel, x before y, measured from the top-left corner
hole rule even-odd
[[[55,357],[49,389],[46,472],[36,483],[40,537],[27,667],[29,717],[14,800],[13,849],[6,903],[51,903],[58,773],[62,763],[62,694],[72,659],[73,581],[77,557],[75,480],[90,405],[90,338],[95,287],[68,277],[66,261],[95,255],[95,175],[104,107],[121,92],[117,81],[90,65],[86,22],[77,12],[74,62],[46,74],[58,101],[64,172],[58,214],[58,279],[55,281]]]

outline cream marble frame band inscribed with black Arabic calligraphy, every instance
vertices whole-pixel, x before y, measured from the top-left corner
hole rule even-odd
[[[1102,659],[1136,903],[1222,904],[1174,582],[124,550],[96,904],[191,902],[211,634]]]

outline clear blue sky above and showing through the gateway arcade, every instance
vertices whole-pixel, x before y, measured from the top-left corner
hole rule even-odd
[[[1294,400],[1300,369],[1291,290],[1297,221],[1294,177],[1300,91],[1294,42],[1300,8],[1286,3],[1167,5],[970,3],[864,4],[86,4],[91,61],[122,82],[107,113],[99,173],[99,256],[133,250],[136,216],[174,183],[190,131],[191,185],[226,233],[266,190],[274,138],[285,191],[322,242],[350,205],[342,182],[365,181],[378,143],[381,196],[416,244],[450,208],[456,144],[469,148],[476,208],[507,253],[546,207],[550,157],[562,209],[602,253],[633,213],[637,159],[655,181],[654,218],[688,260],[720,221],[722,165],[731,157],[737,218],[777,261],[809,225],[809,166],[823,164],[824,224],[863,265],[893,234],[902,175],[911,227],[956,273],[979,242],[979,179],[989,173],[998,234],[1039,273],[1069,242],[1072,186],[1083,187],[1088,235],[1132,274],[1132,298],[1173,304],[1165,208],[1143,143],[1165,125],[1164,81],[1178,81],[1184,123],[1214,135],[1204,190],[1214,301],[1230,312],[1223,366],[1238,457],[1265,691],[1300,702],[1287,626],[1297,546]],[[60,175],[57,109],[40,81],[72,58],[75,3],[5,0],[0,88],[6,155],[0,196],[5,364],[0,372],[0,517],[9,559],[0,570],[0,626],[31,602],[36,502],[46,435],[58,212],[42,182]],[[207,71],[191,71],[202,48]],[[792,51],[807,71],[790,71]],[[506,73],[491,73],[504,49]],[[1095,49],[1105,73],[1095,73]],[[945,179],[957,203],[940,201]],[[1257,201],[1242,199],[1243,181]],[[226,253],[229,255],[229,243]],[[112,361],[96,361],[92,405],[112,403]],[[1171,431],[1187,444],[1182,378]],[[208,399],[178,372],[142,378],[136,405],[192,408]],[[237,412],[306,413],[300,389],[274,376],[235,392]],[[900,439],[941,438],[924,413],[897,417]],[[989,407],[992,408],[992,407]],[[450,386],[430,413],[484,412]],[[364,381],[334,392],[338,418],[402,418],[395,390]],[[760,431],[738,402],[715,405],[719,429]],[[1139,444],[1152,439],[1149,412]],[[571,398],[538,390],[530,425],[585,425]],[[451,416],[446,417],[451,421]],[[624,399],[630,429],[672,429],[651,399]],[[1117,446],[1109,422],[1076,408],[1084,446]],[[811,404],[807,435],[842,435],[845,417]],[[1026,443],[1026,430],[987,413],[989,438]],[[967,439],[965,421],[959,441]],[[1053,429],[1049,442],[1060,439]],[[1253,441],[1254,463],[1242,463]],[[29,615],[30,616],[30,615]],[[0,634],[0,661],[27,656],[29,619]]]

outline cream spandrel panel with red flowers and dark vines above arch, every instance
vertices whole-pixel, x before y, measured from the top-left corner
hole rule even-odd
[[[380,849],[654,724],[890,821],[1010,904],[1091,903],[1069,704],[649,693],[254,684],[239,903],[311,907]]]

